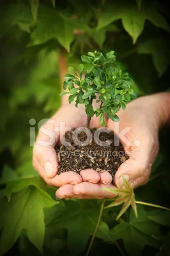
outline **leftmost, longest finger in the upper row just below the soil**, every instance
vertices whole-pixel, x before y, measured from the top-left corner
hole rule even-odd
[[[82,182],[82,177],[76,172],[65,172],[56,175],[53,179],[45,179],[45,182],[50,186],[61,187],[65,184],[79,184]]]

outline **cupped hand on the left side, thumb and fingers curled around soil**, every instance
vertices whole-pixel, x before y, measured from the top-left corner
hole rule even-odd
[[[67,186],[80,184],[82,181],[88,182],[89,186],[97,182],[108,183],[111,178],[109,173],[99,174],[95,170],[86,170],[81,172],[81,175],[75,172],[66,172],[58,175],[58,161],[56,143],[60,143],[59,131],[55,131],[61,122],[65,122],[65,127],[77,128],[86,126],[86,112],[84,106],[75,108],[72,104],[64,104],[57,113],[42,125],[36,138],[35,147],[33,149],[33,166],[40,176],[50,186],[63,188],[63,195],[70,193]],[[98,118],[91,118],[90,128],[100,127]],[[51,141],[50,141],[51,140]],[[44,143],[50,142],[50,145]],[[65,186],[64,186],[65,185]]]

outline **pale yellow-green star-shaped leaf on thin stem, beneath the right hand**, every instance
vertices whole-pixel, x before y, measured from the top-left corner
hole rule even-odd
[[[105,206],[105,208],[114,207],[120,204],[123,204],[123,207],[121,208],[120,213],[118,214],[116,220],[118,220],[121,215],[127,211],[128,207],[132,205],[132,208],[134,210],[135,216],[137,217],[137,207],[135,204],[135,195],[134,195],[134,189],[125,179],[124,175],[122,175],[123,182],[124,182],[124,188],[114,188],[114,189],[108,189],[104,188],[105,191],[109,191],[114,193],[115,195],[118,195],[114,202],[111,204]]]

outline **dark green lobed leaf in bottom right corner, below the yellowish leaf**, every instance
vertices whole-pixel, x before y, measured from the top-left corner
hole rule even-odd
[[[130,211],[130,220],[112,228],[112,239],[123,239],[128,255],[141,256],[144,246],[150,245],[159,248],[161,236],[160,225],[170,225],[169,212],[144,211],[143,207],[137,206],[139,217],[135,218],[134,212]]]

